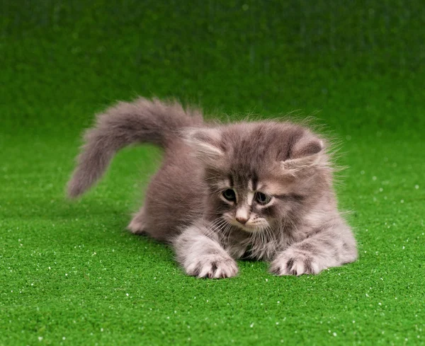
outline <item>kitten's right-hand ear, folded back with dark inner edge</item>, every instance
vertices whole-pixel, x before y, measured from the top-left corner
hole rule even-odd
[[[324,142],[316,137],[302,137],[293,146],[290,157],[280,162],[285,173],[297,173],[305,168],[319,166],[325,163]]]

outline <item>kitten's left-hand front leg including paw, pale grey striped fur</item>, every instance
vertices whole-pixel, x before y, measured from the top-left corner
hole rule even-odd
[[[220,279],[234,277],[239,271],[236,261],[220,245],[216,235],[205,226],[193,225],[175,240],[174,250],[186,274]]]

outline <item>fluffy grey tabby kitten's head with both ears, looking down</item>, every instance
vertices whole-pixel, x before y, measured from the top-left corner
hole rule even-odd
[[[293,224],[330,188],[324,140],[299,125],[241,122],[191,129],[186,142],[204,168],[207,217],[246,232]]]

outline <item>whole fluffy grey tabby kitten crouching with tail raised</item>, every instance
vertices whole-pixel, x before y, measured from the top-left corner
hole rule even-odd
[[[164,149],[132,233],[174,246],[188,275],[234,277],[239,258],[276,275],[318,274],[357,258],[338,212],[327,143],[290,122],[203,122],[199,110],[139,98],[98,115],[85,134],[70,197],[93,185],[116,151]]]

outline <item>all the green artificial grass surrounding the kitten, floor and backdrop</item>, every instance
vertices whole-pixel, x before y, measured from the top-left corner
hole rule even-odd
[[[422,2],[112,2],[0,7],[0,345],[424,344]],[[67,201],[81,130],[138,94],[234,119],[314,114],[342,142],[358,262],[186,277],[125,231],[150,146]]]

